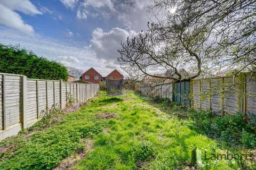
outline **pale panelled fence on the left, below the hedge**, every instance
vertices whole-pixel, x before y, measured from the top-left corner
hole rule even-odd
[[[63,109],[69,102],[92,98],[98,90],[99,84],[0,73],[0,140],[33,125],[53,105]]]

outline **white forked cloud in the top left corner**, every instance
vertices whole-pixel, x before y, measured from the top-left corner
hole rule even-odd
[[[43,14],[28,0],[24,0],[22,3],[18,0],[2,0],[0,1],[0,11],[0,23],[29,34],[34,33],[34,28],[26,24],[21,16],[14,11],[20,11],[28,15]]]

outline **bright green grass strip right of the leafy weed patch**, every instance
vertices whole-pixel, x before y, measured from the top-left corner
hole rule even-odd
[[[131,93],[129,99],[117,101],[115,107],[107,107],[113,103],[110,100],[100,97],[98,101],[104,102],[98,105],[104,106],[102,113],[118,116],[109,119],[108,132],[95,136],[94,149],[74,169],[196,169],[191,165],[191,151],[195,147],[202,152],[207,150],[209,155],[214,151],[225,152],[214,140],[189,127],[193,121],[188,116],[181,120],[155,108],[167,108],[169,101],[150,106],[146,99]],[[170,108],[170,112],[180,110],[178,105],[170,104],[174,109]],[[238,169],[244,164],[206,160],[203,154],[202,160],[205,169]]]

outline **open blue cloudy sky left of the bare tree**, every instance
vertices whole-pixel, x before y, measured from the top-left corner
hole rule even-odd
[[[153,0],[1,0],[0,43],[103,76],[117,62],[121,41],[147,29]]]

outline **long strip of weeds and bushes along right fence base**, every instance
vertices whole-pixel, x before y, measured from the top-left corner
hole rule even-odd
[[[221,117],[212,111],[195,111],[183,107],[171,102],[169,98],[156,96],[151,101],[160,104],[162,111],[189,121],[191,129],[217,139],[223,147],[256,148],[255,124],[253,121],[248,124],[244,114],[237,113]]]

